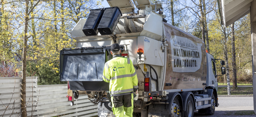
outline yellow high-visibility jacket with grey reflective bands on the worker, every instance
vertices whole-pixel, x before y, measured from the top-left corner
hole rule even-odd
[[[133,93],[133,88],[138,88],[138,78],[129,58],[114,55],[105,63],[102,78],[109,83],[111,96]]]

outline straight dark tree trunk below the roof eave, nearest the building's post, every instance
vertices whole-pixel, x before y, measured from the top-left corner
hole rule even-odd
[[[232,71],[233,71],[233,89],[237,88],[237,76],[236,76],[236,51],[235,51],[235,30],[234,23],[231,25],[231,54],[232,54]]]

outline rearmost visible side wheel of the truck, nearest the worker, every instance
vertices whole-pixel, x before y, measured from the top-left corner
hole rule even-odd
[[[178,97],[176,96],[172,102],[171,117],[180,117],[180,108],[180,102]]]

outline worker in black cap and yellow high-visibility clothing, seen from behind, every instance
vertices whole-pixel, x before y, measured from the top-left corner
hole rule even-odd
[[[112,44],[110,50],[113,58],[105,63],[102,78],[109,83],[112,110],[116,117],[132,117],[133,100],[139,95],[138,78],[132,61],[120,56],[120,46]]]

